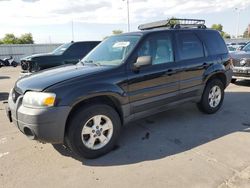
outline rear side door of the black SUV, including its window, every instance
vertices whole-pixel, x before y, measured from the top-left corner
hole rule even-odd
[[[177,61],[181,67],[181,99],[200,95],[203,74],[208,64],[205,49],[199,37],[192,31],[179,31],[175,34]]]

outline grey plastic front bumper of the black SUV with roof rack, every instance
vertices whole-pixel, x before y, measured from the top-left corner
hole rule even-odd
[[[28,108],[22,105],[22,96],[16,103],[8,99],[6,113],[16,127],[27,137],[49,143],[63,143],[70,107]]]

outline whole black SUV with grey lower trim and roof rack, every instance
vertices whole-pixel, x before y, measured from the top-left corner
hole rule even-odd
[[[10,121],[29,138],[95,158],[131,120],[187,101],[215,113],[232,78],[224,40],[204,20],[172,23],[141,25],[104,40],[76,65],[18,80],[6,108]]]

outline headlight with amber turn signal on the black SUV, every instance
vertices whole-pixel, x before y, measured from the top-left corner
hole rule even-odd
[[[23,105],[26,107],[51,107],[54,106],[56,94],[36,91],[28,91],[24,94]]]

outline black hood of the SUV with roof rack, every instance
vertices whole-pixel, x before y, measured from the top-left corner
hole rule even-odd
[[[43,91],[57,83],[76,77],[86,77],[106,69],[108,69],[108,66],[64,65],[19,79],[16,82],[15,90],[22,94],[28,90]]]

